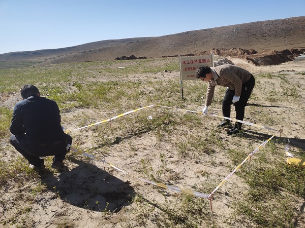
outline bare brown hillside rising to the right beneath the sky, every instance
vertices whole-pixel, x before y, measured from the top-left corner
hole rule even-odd
[[[203,25],[204,26],[204,25]],[[40,59],[40,65],[113,60],[121,56],[158,58],[216,51],[223,56],[241,56],[255,64],[289,61],[305,50],[305,17],[268,20],[181,32],[159,37],[94,42],[64,49],[14,52],[0,61]],[[290,50],[288,53],[284,50]],[[274,57],[277,55],[277,57]],[[286,57],[288,55],[288,58]],[[267,57],[265,57],[267,56]],[[264,59],[267,59],[265,61]],[[277,60],[272,62],[272,59]]]

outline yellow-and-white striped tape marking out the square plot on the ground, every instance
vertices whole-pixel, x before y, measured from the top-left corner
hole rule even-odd
[[[107,119],[107,120],[104,120],[104,121],[100,121],[100,122],[97,122],[97,123],[94,123],[94,124],[90,124],[90,125],[87,125],[87,126],[84,126],[84,127],[80,127],[80,128],[76,128],[76,129],[73,129],[73,130],[70,130],[70,131],[65,131],[65,133],[69,133],[69,132],[72,132],[72,131],[77,131],[77,130],[80,130],[80,129],[84,129],[84,128],[87,128],[87,127],[91,127],[91,126],[95,126],[95,125],[99,125],[99,124],[102,124],[102,123],[106,123],[106,122],[109,122],[109,121],[112,121],[112,120],[115,120],[119,117],[123,117],[125,115],[128,115],[132,112],[135,112],[135,111],[138,111],[138,110],[141,110],[141,109],[144,109],[144,108],[148,108],[148,107],[153,107],[153,106],[158,106],[158,107],[164,107],[164,108],[171,108],[171,109],[177,109],[177,110],[182,110],[182,111],[187,111],[187,112],[193,112],[193,113],[199,113],[199,114],[203,114],[202,112],[199,112],[199,111],[193,111],[193,110],[187,110],[187,109],[183,109],[183,108],[175,108],[175,107],[168,107],[168,106],[163,106],[163,105],[158,105],[158,104],[152,104],[152,105],[149,105],[149,106],[145,106],[145,107],[141,107],[141,108],[137,108],[137,109],[134,109],[134,110],[131,110],[131,111],[127,111],[127,112],[124,112],[118,116],[115,116],[113,118],[110,118],[110,119]],[[89,157],[89,158],[92,158],[92,159],[96,159],[98,161],[102,161],[106,164],[108,164],[109,166],[111,166],[112,168],[120,171],[120,172],[123,172],[125,174],[128,174],[130,176],[133,176],[134,178],[137,178],[141,181],[144,181],[146,183],[150,183],[150,184],[153,184],[153,185],[156,185],[156,186],[159,186],[159,187],[163,187],[163,188],[166,188],[166,189],[170,189],[171,191],[174,191],[174,192],[177,192],[177,193],[183,193],[183,194],[188,194],[188,195],[191,195],[191,196],[196,196],[196,197],[200,197],[200,198],[204,198],[204,199],[209,199],[211,200],[212,197],[213,197],[213,194],[219,189],[219,187],[221,187],[249,158],[251,158],[254,154],[257,153],[257,151],[259,149],[261,149],[268,141],[270,141],[273,137],[275,137],[278,133],[281,133],[283,134],[283,131],[282,130],[276,130],[276,129],[273,129],[273,128],[269,128],[269,127],[265,127],[265,126],[262,126],[262,125],[259,125],[259,124],[254,124],[254,123],[250,123],[250,122],[247,122],[247,121],[241,121],[241,120],[236,120],[236,119],[233,119],[233,118],[228,118],[228,117],[223,117],[223,116],[218,116],[218,115],[215,115],[215,114],[207,114],[209,116],[212,116],[212,117],[217,117],[217,118],[223,118],[223,119],[227,119],[227,120],[231,120],[231,121],[235,121],[235,122],[240,122],[240,123],[243,123],[243,124],[247,124],[247,125],[251,125],[251,126],[254,126],[254,127],[257,127],[257,128],[263,128],[263,129],[267,129],[267,130],[270,130],[270,131],[277,131],[276,134],[272,135],[269,139],[267,139],[266,141],[264,141],[261,145],[259,145],[255,150],[253,150],[245,160],[243,160],[215,189],[214,191],[212,191],[210,194],[205,194],[205,193],[199,193],[199,192],[195,192],[195,191],[191,191],[191,190],[187,190],[187,189],[182,189],[182,188],[179,188],[179,187],[176,187],[176,186],[171,186],[171,185],[166,185],[166,184],[163,184],[163,183],[158,183],[158,182],[155,182],[155,181],[151,181],[151,180],[146,180],[146,179],[143,179],[143,178],[140,178],[140,177],[136,177],[134,175],[131,175],[129,174],[128,172],[124,171],[124,170],[121,170],[117,167],[115,167],[114,165],[112,165],[111,163],[108,163],[107,161],[105,160],[101,160],[101,159],[98,159],[92,155],[89,155],[89,154],[86,154],[80,150],[77,150],[73,147],[71,147],[71,150],[74,152],[74,153],[77,153],[77,154],[81,154],[83,156],[86,156],[86,157]],[[287,139],[288,137],[283,134]],[[289,139],[288,139],[288,142],[290,143]],[[293,155],[291,153],[289,153],[289,148],[290,148],[290,145],[286,145],[285,147],[285,153],[287,156],[293,158]]]

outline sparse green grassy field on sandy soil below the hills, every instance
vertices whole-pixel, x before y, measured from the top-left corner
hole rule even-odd
[[[165,69],[171,73],[164,73]],[[22,85],[36,85],[42,96],[57,102],[63,126],[67,130],[150,104],[200,111],[204,103],[206,84],[198,81],[185,83],[185,99],[181,100],[180,80],[172,76],[178,75],[178,71],[177,58],[0,69],[0,93],[18,95]],[[245,120],[285,129],[283,123],[287,118],[298,115],[299,119],[293,123],[299,129],[294,131],[298,134],[298,140],[303,143],[305,125],[300,120],[305,117],[304,95],[301,93],[305,89],[305,77],[303,72],[294,72],[293,75],[302,77],[302,81],[291,84],[291,74],[288,73],[255,74],[256,87],[260,89],[254,90],[251,95],[249,103],[252,105],[247,106]],[[221,115],[224,91],[225,88],[217,88],[214,97],[213,106],[218,115]],[[293,109],[294,112],[291,113],[281,112],[282,109],[279,108],[284,103],[294,104],[299,108]],[[58,204],[60,201],[63,210],[73,209],[60,195],[59,192],[64,191],[63,189],[58,190],[58,187],[53,186],[51,191],[52,187],[42,181],[41,175],[29,169],[27,162],[17,156],[8,142],[12,107],[2,106],[0,110],[0,184],[3,193],[0,198],[0,226],[81,227],[80,222],[72,222],[75,220],[72,215],[51,226],[47,223],[44,226],[38,222],[39,219],[34,218],[34,208],[43,204],[39,199],[46,194],[49,199],[43,201],[45,205],[51,205],[52,202]],[[147,119],[151,110],[154,113],[152,120]],[[141,152],[137,140],[144,139],[149,134],[149,137],[156,138],[156,146],[159,147],[153,153],[154,156],[148,152],[138,158],[137,167],[130,168],[134,175],[168,185],[183,183],[180,186],[182,188],[210,193],[228,174],[222,170],[233,171],[251,151],[273,135],[273,132],[264,129],[244,126],[247,136],[228,138],[215,127],[219,120],[213,117],[204,118],[195,113],[167,108],[151,110],[143,109],[121,117],[111,122],[111,125],[101,124],[87,128],[82,133],[72,132],[73,146],[98,158],[107,159],[116,157],[115,151],[124,149],[126,157],[117,155],[119,160],[128,160],[131,157],[137,159]],[[287,127],[285,130],[293,129]],[[277,135],[253,157],[251,166],[250,163],[241,166],[234,174],[234,180],[239,185],[228,183],[220,188],[219,193],[216,192],[212,201],[216,207],[214,216],[211,215],[210,201],[206,199],[169,194],[163,188],[150,185],[145,187],[144,184],[137,183],[133,185],[137,189],[135,195],[125,207],[126,215],[116,222],[108,222],[107,227],[301,227],[305,225],[305,169],[286,164],[286,144],[286,137]],[[163,150],[161,145],[166,145],[169,149]],[[303,148],[304,146],[292,145],[290,151],[296,158],[305,160]],[[194,169],[196,167],[196,170],[188,171],[190,173],[174,172],[175,164],[170,162],[170,156],[176,158],[176,165],[181,165],[178,161],[186,161]],[[68,155],[67,160],[71,162],[75,158],[84,163],[93,163],[92,160],[73,153]],[[50,163],[51,158],[47,158],[46,164]],[[123,167],[129,169],[127,165]],[[47,168],[45,175],[58,177],[60,174]],[[193,178],[191,183],[185,180],[186,176]],[[154,196],[158,196],[159,200],[151,199]],[[89,216],[87,224],[93,218],[109,221],[117,214],[109,209],[108,204],[105,207],[96,201],[96,205],[97,210],[84,203],[78,205],[79,210],[87,211],[92,216]],[[228,213],[222,212],[221,205],[227,205]],[[102,223],[91,224],[91,227],[102,227]]]

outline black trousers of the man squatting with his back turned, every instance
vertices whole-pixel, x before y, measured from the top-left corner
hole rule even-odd
[[[28,141],[25,134],[11,135],[10,143],[29,162],[35,166],[41,166],[44,161],[39,157],[54,156],[53,161],[62,162],[70,148],[67,150],[67,143],[72,144],[72,137],[66,134],[67,139],[51,144],[39,144]]]

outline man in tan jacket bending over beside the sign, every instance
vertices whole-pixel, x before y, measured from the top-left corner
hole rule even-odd
[[[245,117],[245,107],[255,85],[253,75],[241,67],[225,64],[216,67],[198,67],[196,76],[198,79],[208,82],[205,106],[202,110],[206,115],[208,106],[212,102],[215,87],[217,85],[227,87],[223,102],[222,111],[224,117],[230,117],[231,104],[234,103],[236,120],[243,120]],[[227,132],[227,135],[240,135],[242,123],[236,122],[235,126]],[[224,119],[219,128],[231,127],[229,120]]]

